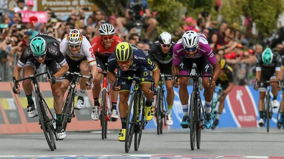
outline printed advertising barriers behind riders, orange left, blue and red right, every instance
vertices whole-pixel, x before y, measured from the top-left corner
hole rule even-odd
[[[0,82],[0,133],[33,133],[41,132],[38,117],[29,118],[27,116],[27,99],[23,90],[20,95],[12,92],[12,83]],[[20,84],[21,85],[21,84]],[[49,83],[40,83],[41,93],[50,109],[53,108],[53,96]],[[22,88],[22,86],[21,86]],[[189,95],[193,87],[188,86]],[[179,100],[178,89],[174,88],[174,104],[172,116],[174,120],[173,126],[164,128],[173,129],[181,128],[183,112]],[[165,93],[166,95],[166,93]],[[205,103],[203,90],[201,91],[202,102]],[[281,100],[281,92],[278,100]],[[34,96],[34,95],[33,95]],[[227,95],[225,100],[225,108],[220,117],[218,127],[257,127],[258,114],[258,92],[253,90],[252,86],[235,86]],[[91,111],[93,97],[91,91],[84,96],[85,107],[81,110],[75,110],[75,118],[68,125],[67,131],[84,131],[84,130],[100,130],[100,121],[91,120]],[[190,98],[189,98],[190,99]],[[75,99],[75,102],[77,97]],[[51,111],[52,111],[51,110]],[[118,110],[118,109],[117,109]],[[273,110],[274,115],[270,120],[270,126],[276,127],[278,108]],[[217,128],[218,128],[217,127]],[[109,122],[108,129],[120,129],[121,122]],[[156,128],[156,119],[154,118],[148,123],[147,129]]]

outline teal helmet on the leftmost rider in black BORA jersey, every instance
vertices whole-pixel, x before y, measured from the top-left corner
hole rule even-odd
[[[40,36],[36,36],[32,39],[30,47],[32,49],[33,55],[35,56],[41,56],[46,52],[46,42]]]

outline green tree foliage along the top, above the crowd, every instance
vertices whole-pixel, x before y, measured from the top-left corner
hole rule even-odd
[[[128,0],[92,0],[108,13],[124,15]],[[261,36],[269,36],[277,28],[278,15],[284,10],[284,0],[222,0],[217,12],[215,0],[147,0],[150,9],[158,11],[158,33],[175,32],[184,23],[181,19],[186,9],[188,15],[195,19],[203,11],[208,11],[213,20],[221,15],[222,21],[229,24],[242,24],[242,16],[251,17]],[[240,29],[240,28],[238,28]],[[249,29],[248,29],[249,30]]]

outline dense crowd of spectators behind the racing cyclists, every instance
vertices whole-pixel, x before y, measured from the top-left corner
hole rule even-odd
[[[22,10],[32,10],[32,0],[17,0],[17,7],[3,13],[0,17],[0,80],[10,81],[12,70],[28,45],[38,33],[54,36],[59,42],[71,29],[78,29],[89,41],[99,36],[98,28],[103,23],[115,26],[116,35],[123,41],[137,45],[147,55],[150,45],[157,40],[158,22],[151,13],[150,7],[144,0],[134,0],[127,3],[124,17],[107,16],[102,9],[97,9],[86,15],[86,8],[72,10],[67,19],[60,19],[47,8],[47,23],[38,23],[37,17],[31,17],[30,23],[22,23]],[[137,7],[140,6],[140,7]],[[142,12],[141,12],[142,11]],[[159,13],[158,13],[159,14]],[[138,25],[140,24],[140,25]],[[234,68],[234,83],[237,85],[252,84],[256,54],[263,51],[263,46],[252,43],[245,33],[238,30],[236,24],[212,20],[210,13],[202,12],[197,19],[182,15],[180,25],[175,32],[170,32],[174,42],[181,38],[186,31],[192,30],[203,33],[217,58],[225,58]],[[141,27],[143,27],[141,32]],[[283,52],[283,29],[278,39],[274,41],[274,51]],[[283,40],[282,40],[283,39]]]

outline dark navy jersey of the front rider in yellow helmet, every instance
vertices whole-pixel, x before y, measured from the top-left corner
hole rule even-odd
[[[134,45],[131,45],[131,47],[133,49],[132,64],[129,69],[124,72],[136,72],[141,66],[146,67],[150,71],[155,71],[157,69],[156,65],[147,58],[141,49]],[[122,71],[121,67],[118,65],[115,55],[112,54],[108,59],[108,72],[114,72],[116,68],[118,68],[119,71]]]

